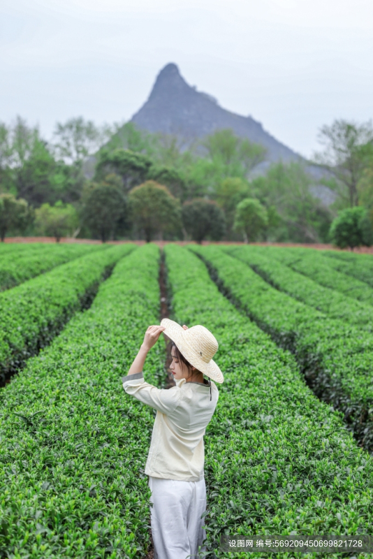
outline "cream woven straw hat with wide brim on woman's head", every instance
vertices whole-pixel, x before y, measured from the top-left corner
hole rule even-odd
[[[161,326],[166,326],[163,334],[175,342],[177,349],[193,367],[215,382],[224,381],[223,373],[217,363],[212,361],[219,345],[210,330],[199,325],[184,330],[177,322],[170,319],[162,319]]]

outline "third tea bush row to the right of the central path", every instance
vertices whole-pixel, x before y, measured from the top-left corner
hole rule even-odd
[[[310,307],[325,312],[332,319],[341,319],[373,331],[373,307],[346,297],[339,291],[323,287],[313,279],[295,272],[271,258],[264,247],[224,247],[225,252],[242,260],[266,282]]]

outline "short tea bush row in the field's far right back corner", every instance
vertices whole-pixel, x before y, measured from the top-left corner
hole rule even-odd
[[[328,258],[328,264],[337,272],[342,272],[356,279],[360,279],[373,287],[373,255],[340,252],[339,250],[323,251]]]

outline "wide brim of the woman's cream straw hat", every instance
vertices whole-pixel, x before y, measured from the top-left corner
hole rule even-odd
[[[222,383],[224,382],[224,376],[221,370],[219,369],[217,363],[210,359],[209,363],[205,363],[202,359],[198,359],[196,354],[191,351],[191,347],[189,344],[186,343],[184,337],[184,328],[177,324],[177,322],[170,320],[170,319],[162,319],[161,326],[166,326],[166,329],[163,331],[167,337],[170,338],[177,349],[180,350],[182,355],[186,358],[193,367],[196,367],[200,372],[203,372],[203,375],[210,377],[214,382]]]

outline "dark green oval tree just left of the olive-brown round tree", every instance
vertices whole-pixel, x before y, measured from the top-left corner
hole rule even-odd
[[[82,221],[102,242],[127,224],[128,203],[117,183],[115,175],[108,175],[105,182],[89,184],[82,198]]]

